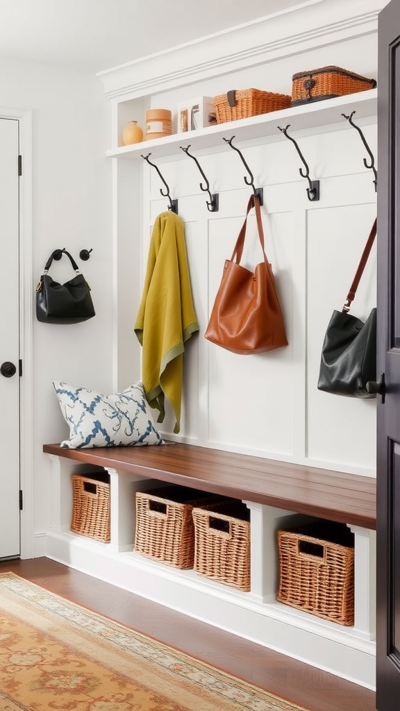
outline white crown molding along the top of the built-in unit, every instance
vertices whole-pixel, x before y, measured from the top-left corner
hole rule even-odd
[[[135,99],[377,33],[382,6],[384,0],[310,0],[97,76],[110,100]]]

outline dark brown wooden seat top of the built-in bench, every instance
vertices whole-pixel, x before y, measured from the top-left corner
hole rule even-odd
[[[302,464],[236,454],[193,444],[161,447],[64,449],[44,444],[43,451],[127,471],[146,479],[190,486],[295,513],[376,529],[376,480]]]

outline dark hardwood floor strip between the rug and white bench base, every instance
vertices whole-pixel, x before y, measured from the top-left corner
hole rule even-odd
[[[48,558],[0,562],[56,594],[157,638],[310,711],[375,711],[375,694]]]

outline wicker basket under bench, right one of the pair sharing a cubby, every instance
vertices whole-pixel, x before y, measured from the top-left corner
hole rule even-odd
[[[239,590],[250,590],[250,510],[231,501],[216,510],[193,509],[194,570]]]

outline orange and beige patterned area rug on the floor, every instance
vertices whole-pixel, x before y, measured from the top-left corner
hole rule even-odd
[[[1,711],[304,711],[0,574]]]

